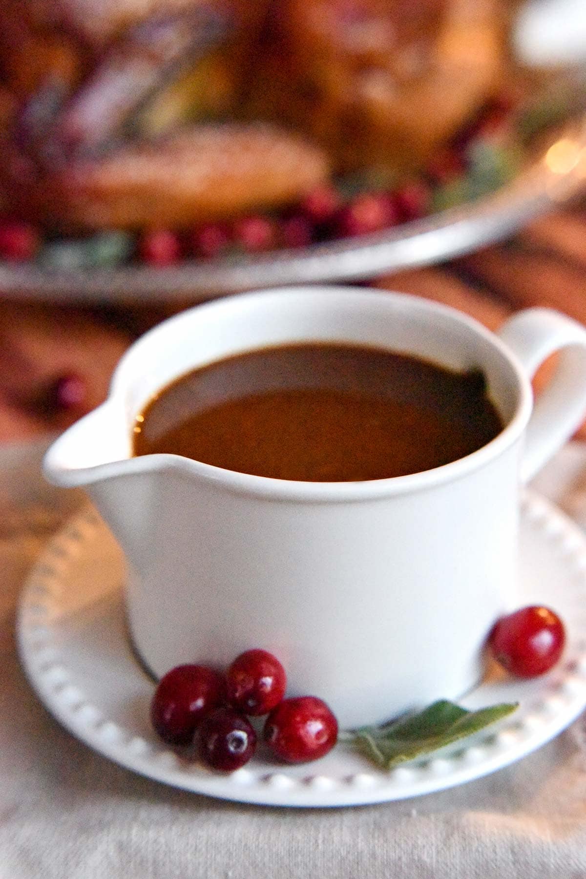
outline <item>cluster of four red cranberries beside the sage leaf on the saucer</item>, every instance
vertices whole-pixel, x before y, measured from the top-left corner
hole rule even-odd
[[[286,673],[266,650],[246,650],[225,675],[206,665],[177,665],[151,701],[150,719],[168,745],[199,752],[213,769],[233,772],[257,747],[250,716],[268,715],[264,742],[289,763],[318,759],[336,745],[337,722],[315,696],[285,699]]]

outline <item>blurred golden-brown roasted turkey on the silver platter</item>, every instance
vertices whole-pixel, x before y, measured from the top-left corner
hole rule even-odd
[[[416,171],[502,87],[507,0],[4,0],[11,208],[60,229],[277,208]]]

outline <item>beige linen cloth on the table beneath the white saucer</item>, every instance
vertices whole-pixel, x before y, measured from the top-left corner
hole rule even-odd
[[[486,779],[340,810],[214,801],[77,742],[37,701],[15,652],[26,570],[77,501],[40,481],[40,451],[0,451],[0,879],[586,876],[583,719]],[[568,447],[538,487],[586,523],[586,447]]]

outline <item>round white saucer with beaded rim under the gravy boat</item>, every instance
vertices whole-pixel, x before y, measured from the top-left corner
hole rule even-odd
[[[92,511],[72,519],[31,572],[18,614],[20,657],[40,700],[76,737],[121,766],[177,788],[280,806],[380,803],[450,788],[524,757],[586,707],[586,537],[534,494],[525,498],[521,531],[520,603],[546,604],[561,614],[568,629],[561,664],[530,681],[493,673],[461,703],[478,708],[519,701],[515,714],[392,772],[339,744],[303,766],[276,765],[261,751],[226,775],[184,762],[161,745],[148,724],[153,683],[127,640],[121,552]]]

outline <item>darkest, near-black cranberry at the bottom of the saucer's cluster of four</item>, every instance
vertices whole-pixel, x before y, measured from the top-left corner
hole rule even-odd
[[[213,769],[234,772],[248,763],[257,747],[257,733],[234,708],[216,708],[199,729],[199,756]]]

